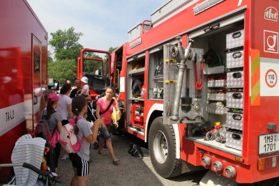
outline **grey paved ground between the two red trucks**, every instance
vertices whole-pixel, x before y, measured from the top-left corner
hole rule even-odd
[[[146,146],[139,139],[127,134],[125,137],[112,135],[112,144],[116,157],[121,160],[119,164],[112,164],[107,149],[105,156],[98,155],[97,150],[91,148],[90,171],[88,185],[199,185],[199,180],[205,171],[192,174],[183,174],[172,179],[160,177],[153,169],[150,157],[133,157],[128,153],[130,143]],[[69,159],[59,160],[59,175],[63,185],[70,185],[73,177],[72,164]]]

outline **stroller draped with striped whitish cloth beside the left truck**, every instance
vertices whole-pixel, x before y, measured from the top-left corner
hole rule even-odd
[[[0,164],[2,167],[13,166],[14,170],[5,185],[54,185],[57,175],[52,173],[54,167],[50,168],[46,162],[47,153],[51,153],[50,149],[46,148],[46,144],[45,139],[32,138],[30,134],[17,139],[11,157],[12,163]]]

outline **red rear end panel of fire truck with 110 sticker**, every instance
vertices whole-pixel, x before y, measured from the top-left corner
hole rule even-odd
[[[245,144],[251,169],[255,170],[252,179],[259,180],[261,176],[265,179],[274,178],[279,171],[278,166],[263,171],[259,171],[257,166],[259,158],[279,155],[278,149],[273,151],[277,153],[271,152],[274,149],[267,149],[269,144],[262,143],[263,139],[260,138],[279,132],[279,116],[274,112],[278,110],[279,102],[279,4],[278,1],[266,1],[263,6],[252,1],[251,10],[250,67],[244,67],[250,68],[250,75],[245,74],[246,79],[250,79],[250,95],[246,96],[250,114],[247,118],[248,137]],[[269,129],[269,123],[273,123],[276,129]]]

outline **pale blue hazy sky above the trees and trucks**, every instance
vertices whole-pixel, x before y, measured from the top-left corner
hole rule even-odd
[[[128,31],[168,0],[27,0],[48,32],[75,28],[86,48],[108,50],[128,41]],[[49,49],[52,49],[49,46]]]

